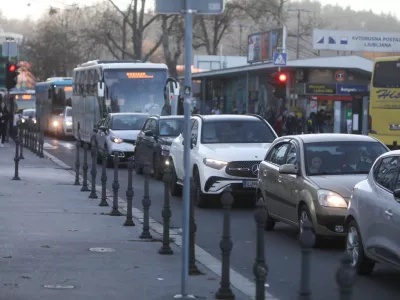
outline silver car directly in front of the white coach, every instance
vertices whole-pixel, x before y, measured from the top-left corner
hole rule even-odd
[[[137,135],[143,128],[148,114],[144,113],[110,113],[95,128],[96,135],[91,144],[96,143],[99,150],[99,162],[104,150],[109,154],[109,165],[112,156],[117,155],[121,162],[133,156]]]

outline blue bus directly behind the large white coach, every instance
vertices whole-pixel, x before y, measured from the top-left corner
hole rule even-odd
[[[52,77],[36,83],[36,119],[47,134],[63,135],[62,113],[72,105],[72,78]]]

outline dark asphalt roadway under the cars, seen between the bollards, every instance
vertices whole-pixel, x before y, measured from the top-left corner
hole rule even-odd
[[[67,165],[74,167],[75,142],[58,141],[47,138],[44,149]],[[81,150],[81,162],[83,150]],[[89,156],[90,161],[90,156]],[[100,182],[98,167],[98,184]],[[90,171],[90,168],[89,168]],[[89,173],[90,176],[90,173]],[[108,169],[108,189],[111,190],[113,170]],[[134,173],[134,203],[141,208],[144,177]],[[127,169],[120,169],[120,196],[125,198],[127,188]],[[162,223],[161,211],[164,186],[160,181],[151,179],[150,198],[152,205],[150,215]],[[100,201],[100,200],[99,200]],[[252,267],[255,259],[255,222],[254,211],[242,199],[232,210],[232,239],[234,248],[231,256],[231,267],[254,280]],[[171,226],[181,227],[182,199],[171,198]],[[220,258],[219,242],[222,232],[222,211],[218,206],[211,209],[196,209],[197,235],[196,244]],[[284,224],[277,224],[275,231],[265,233],[265,247],[269,274],[267,278],[269,293],[279,300],[296,299],[300,276],[300,247],[296,231]],[[338,291],[335,283],[335,272],[344,248],[338,241],[327,243],[322,249],[314,249],[311,263],[311,284],[313,299],[337,300]],[[400,295],[400,272],[386,266],[377,266],[369,277],[359,277],[354,288],[353,300],[384,299],[397,300]]]

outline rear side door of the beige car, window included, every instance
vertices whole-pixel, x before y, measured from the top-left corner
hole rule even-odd
[[[279,178],[279,166],[284,163],[286,151],[290,144],[288,141],[279,142],[268,151],[266,158],[260,164],[259,176],[261,187],[265,197],[268,212],[271,215],[279,215],[279,207],[282,201],[281,179]]]

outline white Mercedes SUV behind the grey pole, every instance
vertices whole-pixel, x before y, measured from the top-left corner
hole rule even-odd
[[[234,194],[255,193],[258,167],[275,131],[257,115],[194,115],[191,118],[190,174],[196,183],[197,206],[228,186]],[[171,145],[173,179],[170,193],[180,196],[185,174],[183,136]]]

